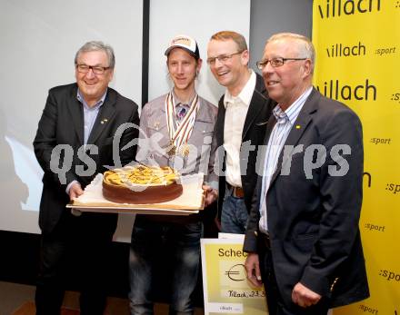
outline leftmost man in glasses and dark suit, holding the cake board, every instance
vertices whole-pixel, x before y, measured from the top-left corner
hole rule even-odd
[[[76,83],[49,91],[38,125],[35,155],[45,172],[35,294],[39,315],[60,313],[65,280],[70,275],[79,280],[81,314],[103,314],[105,310],[105,275],[117,215],[78,216],[65,205],[81,195],[106,166],[119,166],[135,157],[132,144],[138,133],[133,127],[139,122],[137,105],[108,87],[114,67],[111,46],[84,44],[75,55]]]

